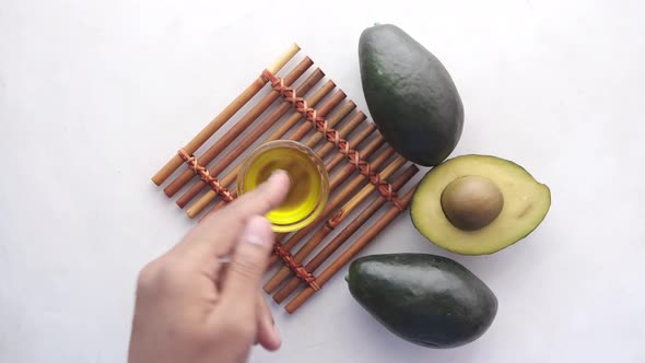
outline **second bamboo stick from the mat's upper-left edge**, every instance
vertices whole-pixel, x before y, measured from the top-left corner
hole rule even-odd
[[[284,78],[284,83],[291,85],[295,82],[303,73],[314,65],[314,62],[306,57],[301,61],[286,77]],[[207,151],[203,152],[198,159],[197,162],[202,165],[207,166],[211,161],[213,161],[226,147],[228,147],[235,138],[237,138],[244,130],[246,130],[263,112],[275,102],[275,99],[280,98],[280,92],[271,91],[267,94],[260,102],[258,102],[244,117],[242,117],[235,125],[226,131],[218,141],[212,144]],[[166,188],[164,188],[164,192],[172,197],[181,189],[192,177],[196,176],[192,168],[187,167],[181,175],[179,175],[173,183],[171,183]]]

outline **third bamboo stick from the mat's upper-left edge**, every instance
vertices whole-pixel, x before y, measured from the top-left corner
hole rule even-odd
[[[316,83],[318,83],[325,73],[318,68],[316,69],[296,90],[297,96],[303,96],[309,92]],[[210,169],[210,175],[219,175],[224,171],[231,163],[233,163],[239,155],[242,155],[256,140],[258,140],[268,129],[270,129],[286,112],[291,109],[289,102],[283,102],[270,113],[259,125],[257,125],[246,137],[244,137],[233,150],[227,152],[224,157],[215,163]],[[203,180],[197,180],[190,189],[188,189],[179,199],[177,199],[177,206],[180,208],[186,207],[203,188],[208,185]],[[168,186],[169,188],[171,186]]]

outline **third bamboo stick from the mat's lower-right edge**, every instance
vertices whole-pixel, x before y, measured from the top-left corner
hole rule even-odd
[[[401,167],[406,163],[406,159],[403,156],[398,156],[394,162],[391,162],[383,172],[379,173],[380,179],[385,180],[390,175],[396,173],[399,167]],[[293,259],[301,264],[304,259],[309,256],[309,254],[318,247],[318,245],[339,225],[345,218],[349,215],[356,207],[359,207],[365,199],[370,197],[370,195],[376,190],[376,187],[373,184],[368,184],[361,191],[352,197],[340,210],[338,210],[331,219],[327,221],[327,223],[322,224],[320,230],[316,232],[316,234],[307,241],[301,249],[293,256]],[[273,277],[265,284],[266,292],[273,292],[286,278],[291,276],[291,270],[289,267],[283,266]]]

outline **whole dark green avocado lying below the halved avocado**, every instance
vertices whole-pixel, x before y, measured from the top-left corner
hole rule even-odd
[[[497,298],[458,262],[426,254],[361,257],[350,265],[352,296],[400,338],[423,347],[456,348],[481,337]]]

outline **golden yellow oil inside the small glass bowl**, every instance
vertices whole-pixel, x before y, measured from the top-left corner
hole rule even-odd
[[[248,166],[244,189],[250,191],[269,178],[275,169],[289,174],[291,187],[282,204],[266,218],[273,225],[293,225],[314,213],[321,201],[322,176],[312,157],[294,148],[269,149]]]

